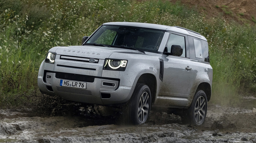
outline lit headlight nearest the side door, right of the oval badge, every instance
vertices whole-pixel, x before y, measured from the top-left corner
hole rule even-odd
[[[103,70],[125,71],[127,60],[105,59]]]

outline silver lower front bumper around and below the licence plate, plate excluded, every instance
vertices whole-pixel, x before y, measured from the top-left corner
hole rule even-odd
[[[86,89],[64,87],[60,86],[60,80],[65,77],[56,78],[58,74],[44,71],[44,75],[38,75],[37,83],[42,93],[58,95],[70,101],[111,105],[127,102],[134,90],[134,87],[120,86],[117,79],[100,77],[95,77],[93,82],[87,82]],[[111,83],[114,86],[106,86],[103,83]]]

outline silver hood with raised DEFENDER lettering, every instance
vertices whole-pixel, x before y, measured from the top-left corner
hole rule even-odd
[[[143,54],[137,50],[120,49],[112,47],[99,47],[99,46],[67,46],[67,47],[53,47],[49,50],[55,52],[57,55],[77,56],[77,57],[90,57],[97,59],[109,58],[113,53],[129,53],[129,54]]]

